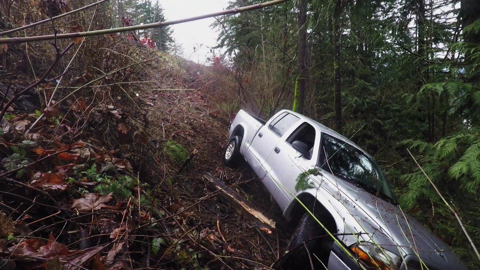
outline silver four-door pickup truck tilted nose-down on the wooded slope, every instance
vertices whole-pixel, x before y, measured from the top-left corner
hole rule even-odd
[[[245,159],[296,227],[287,248],[293,260],[279,268],[467,269],[398,207],[384,172],[346,137],[290,110],[267,122],[240,110],[229,135],[224,163]]]

